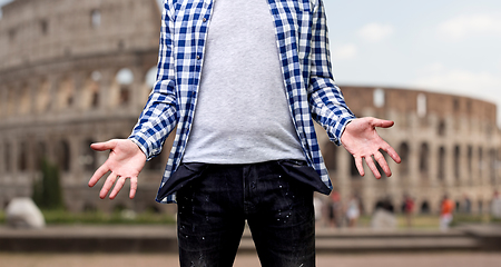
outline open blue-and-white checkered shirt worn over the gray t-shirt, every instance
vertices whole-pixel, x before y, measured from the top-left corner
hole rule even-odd
[[[151,159],[160,154],[164,141],[177,126],[160,187],[179,166],[188,141],[214,1],[164,1],[157,81],[129,137]],[[332,188],[313,120],[340,145],[344,127],[355,117],[334,83],[323,2],[268,0],[268,3],[289,110],[305,159]],[[174,202],[175,195],[157,197],[157,201]]]

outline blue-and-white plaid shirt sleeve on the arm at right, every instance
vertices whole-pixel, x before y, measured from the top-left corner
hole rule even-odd
[[[320,0],[313,10],[310,108],[313,119],[327,131],[330,139],[341,145],[341,135],[355,116],[347,108],[340,88],[334,82],[326,24],[324,4]]]

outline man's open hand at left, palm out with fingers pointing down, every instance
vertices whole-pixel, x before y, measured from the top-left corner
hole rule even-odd
[[[94,172],[89,180],[89,187],[94,187],[102,176],[111,171],[102,186],[99,197],[106,198],[114,184],[117,182],[109,195],[109,198],[114,199],[124,187],[126,179],[130,178],[129,198],[132,199],[136,196],[137,177],[143,167],[145,167],[145,154],[129,139],[112,139],[106,142],[92,144],[90,147],[97,151],[110,150],[110,152],[106,162]]]

